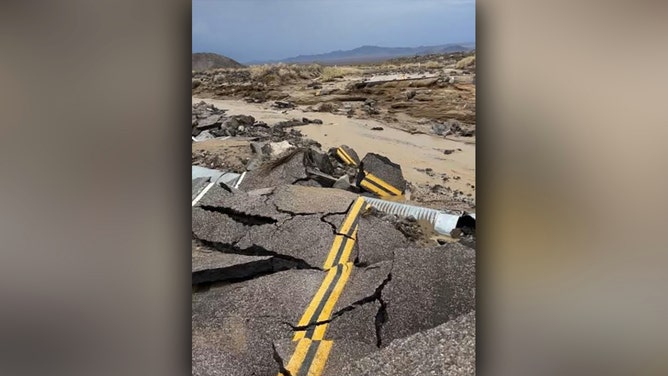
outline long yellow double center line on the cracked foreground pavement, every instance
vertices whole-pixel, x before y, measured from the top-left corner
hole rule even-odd
[[[350,277],[353,263],[349,259],[355,245],[359,214],[368,206],[362,197],[358,197],[334,237],[323,265],[327,275],[297,324],[299,327],[308,328],[295,332],[293,337],[297,346],[286,366],[292,376],[317,376],[325,368],[333,341],[324,339],[329,324],[316,325],[316,323],[331,318],[334,306]],[[279,376],[285,375],[279,373]]]

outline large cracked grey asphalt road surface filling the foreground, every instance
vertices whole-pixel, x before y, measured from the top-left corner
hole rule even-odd
[[[474,374],[475,250],[420,246],[351,192],[275,184],[298,167],[193,206],[192,374]]]

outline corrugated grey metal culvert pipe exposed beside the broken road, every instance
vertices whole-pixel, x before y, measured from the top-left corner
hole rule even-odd
[[[475,227],[475,214],[454,215],[436,209],[401,204],[398,202],[365,197],[364,200],[377,210],[401,217],[413,217],[426,220],[434,226],[434,231],[442,235],[450,235],[452,230],[460,227]]]

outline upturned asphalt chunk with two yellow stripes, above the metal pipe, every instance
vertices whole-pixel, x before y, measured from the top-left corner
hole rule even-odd
[[[406,190],[401,166],[374,153],[369,153],[362,159],[357,185],[379,197],[401,196]]]

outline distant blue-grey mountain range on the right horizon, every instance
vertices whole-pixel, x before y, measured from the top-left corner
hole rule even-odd
[[[317,55],[299,55],[281,60],[250,61],[247,64],[265,63],[324,63],[344,64],[391,59],[402,56],[466,52],[475,49],[475,43],[450,43],[439,46],[420,47],[379,47],[362,46],[346,51],[332,51]]]

